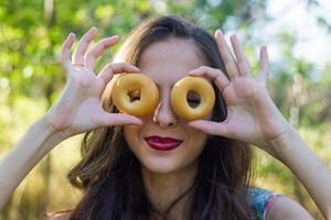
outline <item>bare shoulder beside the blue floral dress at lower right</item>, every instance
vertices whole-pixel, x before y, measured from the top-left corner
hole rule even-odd
[[[313,220],[309,212],[293,199],[279,196],[276,197],[267,210],[266,220]]]

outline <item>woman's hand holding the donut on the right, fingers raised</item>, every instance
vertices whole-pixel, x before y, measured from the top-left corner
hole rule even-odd
[[[278,157],[277,151],[269,143],[286,133],[290,124],[279,112],[266,88],[267,48],[260,48],[260,70],[255,79],[250,75],[250,65],[237,37],[231,36],[235,57],[228,51],[221,30],[215,32],[215,40],[229,78],[221,69],[207,66],[196,68],[190,75],[206,76],[214,80],[227,105],[227,117],[223,122],[195,120],[189,122],[189,125],[207,134],[257,145]]]

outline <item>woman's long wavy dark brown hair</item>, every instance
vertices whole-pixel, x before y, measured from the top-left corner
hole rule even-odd
[[[214,38],[191,22],[172,15],[141,23],[127,38],[117,59],[138,65],[139,57],[151,43],[169,37],[193,41],[205,56],[206,65],[226,73]],[[227,114],[226,105],[215,85],[213,87],[216,102],[212,120],[223,121]],[[118,112],[108,90],[103,96],[103,107],[109,112]],[[140,163],[127,146],[121,127],[86,133],[82,155],[82,161],[67,175],[71,184],[84,193],[71,213],[71,220],[148,220],[156,216],[146,195]],[[210,135],[190,188],[192,202],[186,212],[190,215],[182,219],[250,219],[247,189],[252,179],[252,148],[247,144]],[[163,219],[167,219],[167,213]]]

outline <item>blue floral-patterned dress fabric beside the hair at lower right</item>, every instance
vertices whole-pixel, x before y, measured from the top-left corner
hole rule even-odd
[[[274,194],[268,190],[252,188],[249,189],[249,200],[252,211],[256,216],[256,220],[265,220],[266,212],[271,207],[273,201],[276,197],[281,196],[280,194]]]

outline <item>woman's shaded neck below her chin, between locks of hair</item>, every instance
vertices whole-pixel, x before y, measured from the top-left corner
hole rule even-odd
[[[153,173],[141,166],[147,196],[158,213],[163,216],[168,212],[170,219],[181,219],[183,217],[184,209],[188,208],[184,205],[189,204],[186,201],[191,195],[190,189],[196,170],[196,162],[181,170],[167,174]],[[173,202],[175,202],[174,206],[172,206]]]

